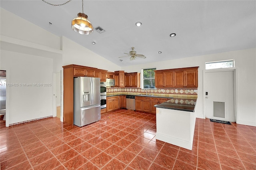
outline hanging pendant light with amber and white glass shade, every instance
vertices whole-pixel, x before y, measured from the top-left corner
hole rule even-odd
[[[72,20],[72,30],[79,34],[89,35],[93,32],[93,26],[87,19],[88,16],[84,14],[84,0],[82,0],[82,13],[77,14],[78,17]]]

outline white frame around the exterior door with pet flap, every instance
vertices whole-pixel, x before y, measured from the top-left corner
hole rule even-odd
[[[203,106],[204,106],[204,119],[206,119],[206,89],[205,89],[205,73],[210,72],[222,72],[222,71],[233,71],[233,85],[234,85],[234,119],[235,122],[238,123],[238,105],[237,105],[237,69],[232,68],[225,68],[225,69],[204,69],[203,70]]]

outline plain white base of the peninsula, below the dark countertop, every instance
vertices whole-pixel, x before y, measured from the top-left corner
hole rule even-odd
[[[156,139],[192,150],[196,114],[156,108]]]

